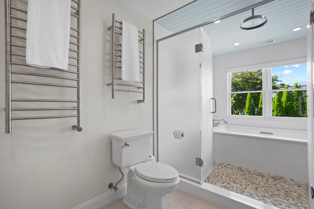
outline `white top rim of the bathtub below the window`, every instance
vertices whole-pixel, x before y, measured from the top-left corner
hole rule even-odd
[[[213,133],[235,135],[250,138],[283,140],[295,143],[307,143],[306,131],[271,129],[248,126],[222,125],[213,129]]]

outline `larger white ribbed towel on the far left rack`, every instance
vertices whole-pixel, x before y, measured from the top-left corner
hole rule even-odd
[[[28,0],[26,63],[67,70],[71,0]]]

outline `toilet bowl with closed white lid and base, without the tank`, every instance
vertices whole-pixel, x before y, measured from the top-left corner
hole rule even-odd
[[[178,171],[167,164],[135,164],[129,167],[123,202],[131,209],[172,209],[171,193],[179,182]]]

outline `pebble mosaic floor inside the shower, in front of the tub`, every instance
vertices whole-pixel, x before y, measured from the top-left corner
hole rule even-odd
[[[281,209],[310,209],[304,182],[219,162],[206,182]]]

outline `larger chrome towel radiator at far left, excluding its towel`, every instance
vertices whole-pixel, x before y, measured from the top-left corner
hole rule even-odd
[[[80,0],[71,0],[68,70],[34,68],[26,65],[25,60],[27,1],[5,0],[6,134],[12,133],[12,120],[64,117],[77,117],[77,124],[73,125],[72,129],[78,132],[82,131],[80,126],[80,11]],[[71,92],[73,90],[74,92]],[[40,91],[42,92],[40,93]],[[53,93],[58,95],[75,94],[75,98],[47,98]],[[53,111],[58,114],[43,115]],[[14,114],[20,114],[20,116],[14,116]]]

